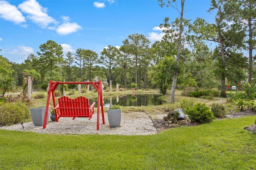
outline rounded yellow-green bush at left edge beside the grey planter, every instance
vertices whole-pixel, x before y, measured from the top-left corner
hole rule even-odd
[[[30,117],[29,107],[21,101],[2,103],[0,105],[0,125],[21,123]]]

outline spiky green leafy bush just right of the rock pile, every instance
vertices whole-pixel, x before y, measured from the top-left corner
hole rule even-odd
[[[187,107],[184,113],[188,115],[192,123],[210,123],[216,119],[210,111],[210,107],[206,106],[205,103],[197,103],[194,107]]]

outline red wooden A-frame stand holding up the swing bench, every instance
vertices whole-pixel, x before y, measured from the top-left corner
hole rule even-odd
[[[46,123],[47,123],[47,115],[48,115],[48,110],[49,110],[49,105],[50,105],[50,97],[52,94],[52,101],[53,101],[53,107],[56,107],[56,101],[55,101],[55,96],[54,96],[54,91],[57,88],[58,84],[92,84],[96,91],[98,92],[98,103],[97,103],[97,130],[100,129],[100,107],[101,107],[101,114],[102,114],[102,124],[105,124],[105,119],[104,119],[104,109],[103,109],[103,98],[102,98],[102,86],[101,86],[101,81],[94,82],[60,82],[60,81],[50,81],[49,89],[48,89],[48,97],[47,97],[47,103],[46,103],[46,109],[45,109],[45,115],[44,115],[44,125],[43,129],[46,128]],[[56,115],[56,113],[55,113]],[[57,115],[56,115],[57,116]],[[56,119],[58,122],[58,120]]]

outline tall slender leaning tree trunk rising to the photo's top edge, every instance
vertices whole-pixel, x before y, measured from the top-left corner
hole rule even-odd
[[[183,32],[183,11],[184,11],[184,2],[185,0],[181,1],[181,12],[180,12],[180,26],[179,26],[179,40],[178,40],[178,49],[177,49],[177,66],[180,64],[180,49],[181,49],[181,40],[182,40],[182,32]],[[178,70],[175,70],[174,76],[172,79],[172,89],[171,89],[171,96],[170,96],[170,103],[174,103],[174,96],[175,96],[175,89],[176,89],[176,82],[178,78]]]

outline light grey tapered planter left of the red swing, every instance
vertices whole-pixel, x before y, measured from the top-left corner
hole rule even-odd
[[[33,121],[35,126],[42,127],[44,125],[45,109],[46,109],[46,107],[30,108],[30,115],[31,115],[32,121]],[[48,116],[47,116],[46,124],[48,123],[49,115],[50,115],[50,107],[49,107],[49,110],[48,110]]]

